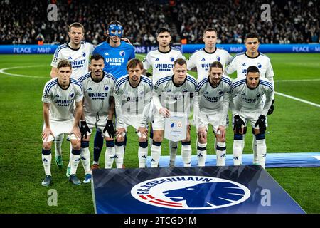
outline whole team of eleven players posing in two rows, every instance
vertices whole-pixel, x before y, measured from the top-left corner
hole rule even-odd
[[[82,24],[70,24],[70,41],[56,49],[51,62],[52,79],[43,89],[42,161],[46,172],[43,186],[52,182],[52,142],[55,142],[55,163],[63,167],[61,145],[65,134],[70,140],[66,176],[74,185],[81,183],[76,176],[80,160],[85,169],[83,182],[91,182],[92,169],[99,168],[104,140],[107,146],[105,168],[111,168],[114,161],[117,168],[124,167],[129,125],[136,129],[139,138],[139,167],[146,167],[149,136],[151,167],[158,167],[165,119],[186,113],[186,109],[188,113],[193,111],[191,124],[197,131],[198,166],[206,162],[208,125],[213,126],[215,133],[217,165],[225,165],[225,128],[228,127],[228,110],[231,110],[234,165],[242,163],[250,121],[255,135],[253,164],[265,167],[266,115],[274,110],[274,73],[270,59],[258,51],[257,34],[248,34],[245,38],[247,51],[232,57],[227,51],[216,48],[217,31],[206,28],[203,32],[205,48],[186,61],[181,51],[170,46],[170,29],[163,27],[157,31],[159,46],[140,61],[135,58],[132,44],[123,37],[119,21],[108,24],[107,39],[97,46],[82,41],[84,31]],[[147,72],[150,68],[152,73]],[[197,79],[187,71],[197,71]],[[233,80],[228,75],[235,71],[237,78]],[[189,123],[185,126],[181,157],[183,166],[188,167],[192,153],[191,127]],[[93,128],[96,134],[90,166],[89,142]],[[178,142],[169,141],[170,167],[174,166],[177,145]]]

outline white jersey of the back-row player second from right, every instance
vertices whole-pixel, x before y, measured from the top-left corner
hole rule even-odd
[[[230,63],[232,56],[228,51],[225,51],[220,48],[215,48],[213,53],[208,53],[204,48],[195,51],[187,61],[187,68],[190,71],[192,68],[197,68],[197,81],[201,81],[203,78],[206,78],[209,75],[209,69],[211,63],[214,61],[219,61],[223,68]]]

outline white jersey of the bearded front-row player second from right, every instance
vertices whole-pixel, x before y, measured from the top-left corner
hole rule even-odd
[[[213,111],[220,111],[223,113],[222,116],[228,115],[231,83],[231,78],[222,76],[218,86],[213,87],[209,77],[203,78],[196,88],[199,95],[197,103],[201,113],[210,114]]]

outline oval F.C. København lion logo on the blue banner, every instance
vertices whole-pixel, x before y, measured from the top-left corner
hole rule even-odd
[[[154,207],[218,209],[245,202],[250,190],[238,182],[206,176],[159,177],[132,187],[135,199]]]

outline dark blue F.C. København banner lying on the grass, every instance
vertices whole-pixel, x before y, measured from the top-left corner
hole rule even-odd
[[[92,172],[97,214],[305,213],[257,165]]]

